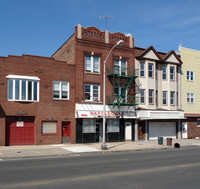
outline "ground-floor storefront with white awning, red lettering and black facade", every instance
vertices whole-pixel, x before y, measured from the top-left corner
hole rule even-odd
[[[106,106],[106,142],[134,139],[134,107]],[[103,106],[76,104],[76,143],[102,142]]]

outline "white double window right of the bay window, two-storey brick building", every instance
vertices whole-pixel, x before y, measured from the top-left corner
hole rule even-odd
[[[69,100],[69,82],[53,81],[53,99]]]

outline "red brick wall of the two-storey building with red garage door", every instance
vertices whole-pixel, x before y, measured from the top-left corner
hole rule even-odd
[[[55,61],[53,58],[23,55],[0,58],[0,145],[5,145],[5,115],[35,117],[35,144],[61,143],[61,123],[71,121],[71,137],[75,142],[75,67],[67,62]],[[9,74],[36,76],[40,78],[39,102],[14,102],[7,100],[7,80]],[[70,100],[52,99],[52,82],[70,82]],[[23,115],[22,115],[23,116]],[[58,133],[41,134],[41,124],[45,120],[56,120]]]

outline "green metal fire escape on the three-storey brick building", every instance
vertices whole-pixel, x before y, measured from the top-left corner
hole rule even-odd
[[[107,68],[107,77],[113,86],[112,96],[107,96],[107,104],[114,106],[135,106],[136,78],[138,69],[113,65]]]

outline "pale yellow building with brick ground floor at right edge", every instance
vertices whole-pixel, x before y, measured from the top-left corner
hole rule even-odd
[[[182,138],[200,137],[200,51],[179,46],[177,54],[183,62],[181,108],[186,120],[182,122]]]

